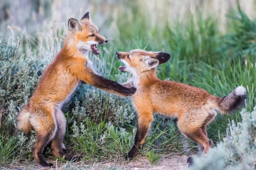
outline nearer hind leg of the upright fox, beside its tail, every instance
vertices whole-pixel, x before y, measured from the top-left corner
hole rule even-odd
[[[43,156],[42,152],[49,141],[55,135],[56,123],[52,113],[47,113],[44,109],[36,111],[37,114],[33,114],[30,118],[30,123],[33,129],[37,132],[37,138],[33,148],[33,156],[35,161],[45,167],[51,167],[53,164],[48,164]],[[38,116],[39,115],[39,116]]]

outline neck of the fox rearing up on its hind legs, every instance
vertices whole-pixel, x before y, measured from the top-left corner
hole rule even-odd
[[[83,49],[79,50],[79,49],[77,49],[76,46],[75,46],[75,39],[70,34],[67,35],[65,45],[63,46],[63,48],[61,50],[62,53],[64,53],[65,55],[68,55],[70,57],[83,56],[87,60],[89,60],[88,59],[88,51],[89,50],[83,50]]]

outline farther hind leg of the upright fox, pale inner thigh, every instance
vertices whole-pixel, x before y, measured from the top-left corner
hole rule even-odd
[[[55,110],[55,118],[58,128],[56,135],[51,143],[52,153],[58,158],[65,156],[65,159],[68,161],[71,161],[72,159],[81,159],[81,157],[74,157],[72,155],[66,154],[62,149],[62,142],[66,132],[66,118],[64,114],[61,112],[60,108]]]

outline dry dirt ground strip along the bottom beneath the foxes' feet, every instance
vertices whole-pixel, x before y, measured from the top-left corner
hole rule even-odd
[[[8,168],[3,169],[115,169],[115,170],[176,170],[176,169],[184,169],[188,166],[187,155],[166,155],[162,156],[156,165],[152,165],[145,157],[139,157],[135,160],[131,160],[129,162],[115,162],[115,161],[105,161],[102,163],[91,163],[85,164],[83,162],[76,163],[59,163],[48,160],[48,162],[54,164],[54,168],[44,168],[42,166],[38,166],[37,164],[23,162],[23,163],[13,163]],[[0,167],[0,169],[2,169]]]

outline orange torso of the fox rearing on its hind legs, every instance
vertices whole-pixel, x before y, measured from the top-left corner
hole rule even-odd
[[[55,60],[45,69],[29,103],[37,105],[60,105],[73,93],[79,79],[72,74],[70,61]]]

